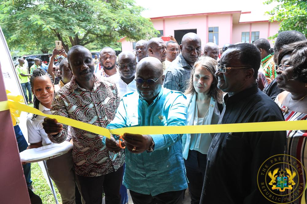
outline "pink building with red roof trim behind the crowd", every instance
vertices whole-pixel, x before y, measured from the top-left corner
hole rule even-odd
[[[266,17],[257,17],[252,12],[242,11],[196,13],[150,19],[154,28],[159,30],[161,35],[173,35],[179,44],[186,33],[198,34],[201,38],[202,49],[208,42],[214,42],[219,47],[223,47],[225,43],[253,43],[259,38],[267,39],[275,35],[279,29],[278,22],[269,22],[269,20],[263,20]],[[132,51],[135,48],[135,42],[126,41],[125,37],[120,42],[123,51]],[[270,44],[273,47],[272,40]]]

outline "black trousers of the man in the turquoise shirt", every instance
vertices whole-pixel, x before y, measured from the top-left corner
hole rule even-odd
[[[185,190],[168,191],[155,196],[129,190],[134,204],[182,204]]]

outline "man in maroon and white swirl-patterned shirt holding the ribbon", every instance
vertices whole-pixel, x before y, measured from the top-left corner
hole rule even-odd
[[[114,119],[119,106],[116,85],[97,79],[91,52],[83,46],[73,46],[69,50],[68,67],[74,76],[55,94],[52,114],[105,128]],[[67,125],[46,117],[43,126],[53,143],[66,139]],[[104,190],[106,203],[120,203],[123,151],[115,158],[114,153],[103,145],[102,135],[75,127],[71,127],[71,132],[74,170],[85,202],[101,204]]]

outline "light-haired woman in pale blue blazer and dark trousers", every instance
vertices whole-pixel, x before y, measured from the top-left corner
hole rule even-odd
[[[217,124],[222,112],[223,92],[217,88],[217,61],[200,57],[191,72],[188,89],[185,91],[188,106],[186,125]],[[213,133],[184,134],[182,137],[183,158],[189,180],[191,204],[200,202],[201,190],[207,164],[207,153]]]

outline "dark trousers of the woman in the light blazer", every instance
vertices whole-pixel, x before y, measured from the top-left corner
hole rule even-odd
[[[201,154],[196,150],[189,150],[188,158],[184,161],[189,180],[188,189],[191,196],[191,204],[199,204],[205,178],[207,154]]]

